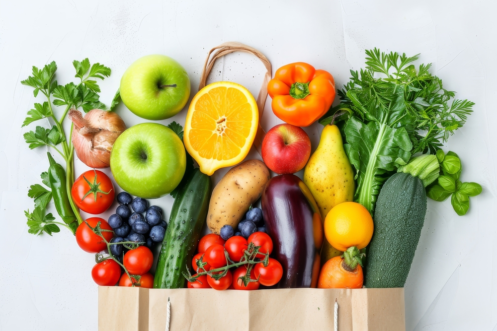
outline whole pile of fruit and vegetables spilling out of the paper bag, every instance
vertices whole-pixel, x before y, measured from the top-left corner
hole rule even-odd
[[[203,87],[189,105],[184,132],[175,122],[126,129],[113,113],[119,97],[148,120],[170,118],[186,105],[190,81],[179,63],[159,55],[137,60],[108,111],[95,79],[108,77],[109,68],[75,61],[80,82],[59,85],[55,63],[33,67],[22,83],[47,101],[35,103],[23,126],[45,118],[55,125],[24,137],[31,149],[51,147],[66,167],[48,153],[50,167],[41,175],[48,189],[36,184],[28,191],[35,202],[25,212],[28,231],[71,230],[84,251],[96,254],[91,275],[99,285],[403,287],[427,198],[451,197],[464,215],[469,197],[482,192],[479,184],[460,181],[460,158],[441,149],[474,103],[454,99],[430,65],[416,68],[417,56],[377,49],[366,55],[366,67],[351,71],[335,107],[335,82],[325,70],[299,62],[267,78],[272,110],[286,123],[260,139],[262,161],[244,161],[260,134],[261,113],[239,84]],[[67,136],[66,115],[72,121]],[[324,128],[311,154],[300,127],[317,120]],[[89,168],[76,180],[74,151]],[[95,169],[109,166],[118,194]],[[223,167],[232,168],[213,187],[210,176]],[[303,179],[294,175],[302,169]],[[168,222],[163,208],[147,200],[167,194],[174,198]],[[52,199],[62,222],[46,213]],[[114,200],[119,205],[107,221],[80,215],[80,209],[99,215]],[[211,233],[201,236],[204,229]]]

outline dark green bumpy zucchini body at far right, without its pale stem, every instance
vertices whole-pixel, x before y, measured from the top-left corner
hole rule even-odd
[[[426,192],[421,179],[399,172],[385,182],[376,202],[365,287],[404,287],[425,214]]]

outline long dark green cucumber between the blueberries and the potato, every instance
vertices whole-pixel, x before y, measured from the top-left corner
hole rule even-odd
[[[154,288],[183,288],[187,265],[200,239],[211,197],[211,178],[196,168],[172,205],[154,277]]]

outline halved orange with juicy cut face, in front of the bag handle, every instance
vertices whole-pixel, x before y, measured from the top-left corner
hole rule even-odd
[[[255,99],[240,84],[219,81],[193,97],[186,115],[184,144],[200,171],[214,171],[241,162],[252,145],[259,113]]]

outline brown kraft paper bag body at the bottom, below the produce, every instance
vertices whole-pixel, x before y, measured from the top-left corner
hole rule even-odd
[[[143,289],[100,287],[102,331],[165,331],[167,299],[171,331],[333,330],[404,331],[404,289]]]

